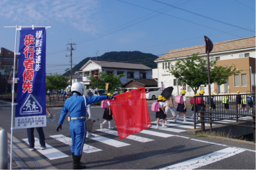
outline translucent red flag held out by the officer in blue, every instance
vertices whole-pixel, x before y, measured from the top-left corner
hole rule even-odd
[[[149,117],[145,87],[115,96],[109,101],[120,139],[152,126]]]

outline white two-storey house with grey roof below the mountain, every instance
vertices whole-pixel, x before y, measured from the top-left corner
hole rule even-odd
[[[96,72],[115,72],[115,76],[120,74],[125,74],[122,77],[121,83],[124,84],[131,79],[152,79],[152,69],[141,63],[131,63],[131,62],[119,62],[119,61],[107,61],[107,60],[95,60],[90,59],[81,68],[83,82],[87,86],[87,89],[94,89],[91,87],[89,77],[94,75]]]

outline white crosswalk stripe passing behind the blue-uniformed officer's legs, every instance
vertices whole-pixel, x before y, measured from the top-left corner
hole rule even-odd
[[[71,137],[67,137],[67,136],[64,136],[64,135],[52,135],[50,136],[58,141],[61,141],[65,144],[68,144],[71,146],[72,144],[72,138]],[[84,149],[83,149],[83,152],[84,153],[92,153],[92,152],[98,152],[98,151],[102,151],[101,149],[98,149],[98,148],[95,148],[95,147],[92,147],[91,145],[88,145],[88,144],[84,144]]]

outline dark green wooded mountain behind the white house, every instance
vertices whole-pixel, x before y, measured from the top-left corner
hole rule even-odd
[[[157,64],[154,62],[156,58],[158,58],[158,56],[155,56],[153,54],[134,51],[134,52],[108,52],[99,57],[92,57],[91,59],[110,60],[110,61],[128,61],[128,62],[134,62],[134,63],[142,63],[150,68],[157,68]],[[72,74],[74,74],[75,71],[80,71],[80,68],[88,60],[90,60],[89,57],[83,59],[80,63],[76,64],[72,68]],[[69,76],[70,74],[67,71],[63,75]]]

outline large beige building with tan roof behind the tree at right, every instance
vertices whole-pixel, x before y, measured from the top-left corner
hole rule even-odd
[[[177,84],[177,80],[169,72],[170,64],[176,62],[177,59],[186,58],[192,54],[199,53],[198,56],[207,57],[205,53],[205,45],[191,46],[171,50],[163,56],[154,60],[157,63],[157,69],[153,70],[153,77],[158,79],[158,86],[164,82],[165,87],[173,86],[174,94],[181,92],[181,89],[187,91],[187,95],[194,94],[191,87]],[[169,63],[166,63],[168,60]],[[240,74],[236,74],[227,78],[227,83],[222,85],[211,84],[211,92],[214,94],[255,92],[255,37],[235,39],[213,43],[213,50],[210,53],[210,60],[216,60],[216,65],[233,66],[242,70]],[[206,73],[207,76],[207,73]],[[199,89],[205,91],[208,95],[208,86],[202,85]],[[198,91],[198,92],[199,92]]]

